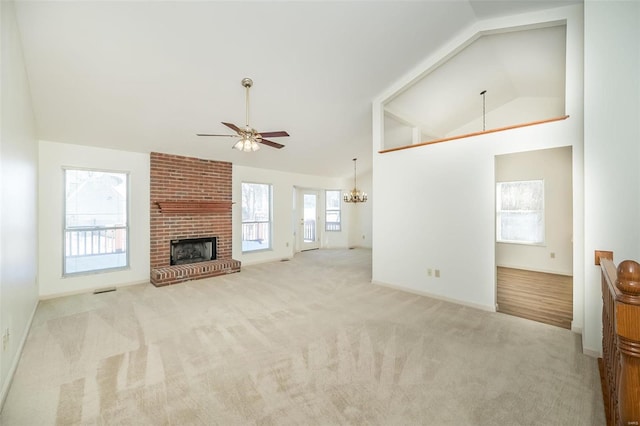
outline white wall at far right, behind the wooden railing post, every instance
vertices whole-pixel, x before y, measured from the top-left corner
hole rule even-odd
[[[594,250],[640,260],[640,2],[585,1],[585,349],[601,351]]]

